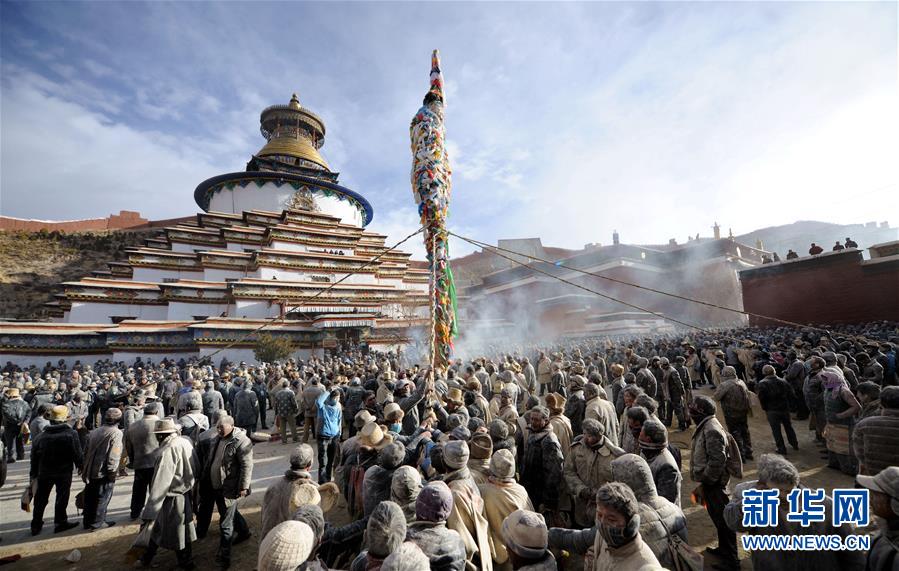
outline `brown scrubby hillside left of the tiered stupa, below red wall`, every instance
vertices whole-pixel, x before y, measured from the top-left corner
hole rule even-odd
[[[0,232],[0,317],[45,318],[60,282],[105,271],[156,232]]]

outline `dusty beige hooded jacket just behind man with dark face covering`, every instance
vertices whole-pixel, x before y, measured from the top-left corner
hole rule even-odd
[[[628,485],[640,502],[640,535],[663,567],[673,568],[668,553],[668,534],[687,541],[687,519],[679,507],[656,493],[649,466],[636,455],[617,458],[612,463],[615,480]]]

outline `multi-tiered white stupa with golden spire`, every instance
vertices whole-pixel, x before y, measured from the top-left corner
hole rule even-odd
[[[337,184],[319,153],[324,122],[296,95],[260,123],[267,142],[246,171],[197,186],[195,221],[161,230],[108,272],[62,284],[54,322],[0,324],[0,362],[213,352],[251,361],[247,335],[266,323],[298,356],[410,343],[427,325],[428,270],[364,230],[371,205]]]

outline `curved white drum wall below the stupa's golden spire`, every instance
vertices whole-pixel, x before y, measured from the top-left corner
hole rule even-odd
[[[280,212],[290,203],[290,199],[296,192],[289,184],[275,186],[273,182],[266,182],[261,187],[250,183],[241,188],[221,189],[212,196],[209,202],[209,210],[216,212],[231,212],[239,214],[244,210],[268,210]],[[344,224],[362,226],[362,213],[351,202],[340,200],[335,196],[325,196],[313,191],[315,204],[321,212],[337,216]]]

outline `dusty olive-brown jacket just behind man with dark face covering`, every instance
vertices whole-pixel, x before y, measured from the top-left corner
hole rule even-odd
[[[584,444],[584,437],[578,436],[571,445],[565,458],[563,475],[565,486],[573,496],[574,520],[581,526],[588,526],[594,521],[595,504],[580,497],[585,488],[591,493],[607,482],[612,481],[612,460],[624,454],[612,442],[603,437],[595,447]]]

